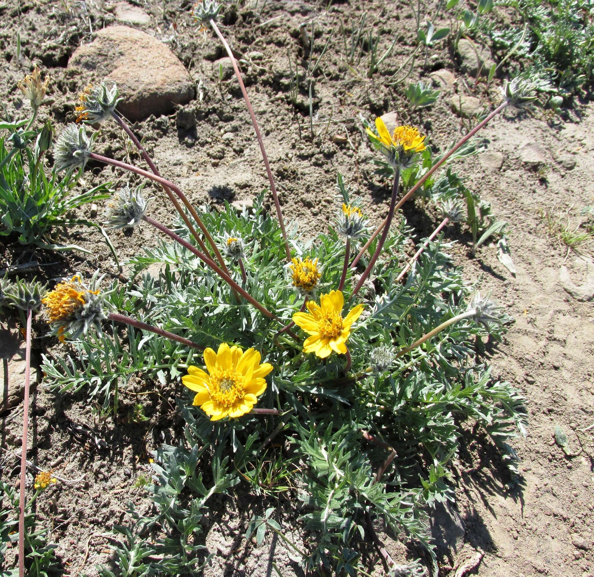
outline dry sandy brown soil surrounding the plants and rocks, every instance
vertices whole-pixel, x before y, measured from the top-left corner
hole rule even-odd
[[[36,2],[17,5],[11,0],[0,4],[0,49],[4,55],[0,62],[0,96],[10,110],[17,109],[17,81],[31,64],[40,63],[52,77],[49,105],[41,116],[53,116],[58,125],[74,120],[78,91],[87,81],[102,77],[101,71],[67,67],[69,57],[78,45],[91,41],[90,26],[96,31],[118,24],[113,6],[102,2],[72,2],[69,11],[65,6]],[[432,14],[434,8],[426,5],[426,14]],[[222,55],[213,34],[198,32],[192,26],[188,2],[149,1],[135,9],[149,16],[144,23],[130,26],[168,43],[188,69],[196,94],[203,93],[202,100],[191,100],[169,115],[138,122],[135,131],[146,137],[163,175],[178,182],[192,201],[217,204],[221,198],[251,198],[267,186],[266,174],[235,78],[227,77],[225,71],[220,80],[219,67],[212,64]],[[364,66],[357,72],[349,71],[339,33],[341,20],[357,21],[363,11],[368,12],[369,26],[376,33],[383,31],[384,49],[391,39],[399,37],[393,55],[371,80],[365,78]],[[501,19],[505,21],[503,15]],[[406,4],[353,1],[326,7],[325,2],[270,1],[260,17],[257,11],[249,13],[240,8],[231,20],[223,30],[234,49],[244,56],[248,91],[266,134],[283,211],[287,220],[298,224],[304,237],[326,227],[332,218],[337,170],[358,190],[366,212],[375,222],[386,214],[388,183],[374,175],[374,153],[360,130],[359,113],[372,119],[397,112],[402,122],[421,126],[432,147],[444,151],[474,122],[451,111],[454,94],[478,96],[486,108],[497,103],[500,80],[489,91],[485,91],[484,83],[474,90],[473,79],[459,71],[447,42],[425,61],[420,58],[410,76],[411,81],[419,77],[426,80],[438,69],[448,69],[454,75],[454,84],[444,88],[430,109],[410,111],[403,96],[405,84],[386,86],[387,78],[414,45],[415,21]],[[317,55],[328,40],[328,31],[336,28],[315,77],[313,141],[308,138],[305,93],[299,96],[302,110],[294,107],[288,97],[287,51],[293,66],[298,62],[302,70],[307,68],[296,32],[305,21],[315,23]],[[447,17],[443,24],[448,24]],[[17,29],[23,40],[20,66],[13,58]],[[311,33],[311,27],[308,30]],[[188,115],[196,122],[188,121]],[[226,140],[229,137],[223,138],[229,133],[233,147]],[[489,123],[481,137],[486,139],[489,153],[500,156],[482,153],[465,158],[457,162],[454,170],[466,177],[469,188],[492,203],[498,219],[508,222],[517,274],[503,267],[496,258],[495,246],[489,243],[472,258],[467,230],[448,227],[445,237],[457,241],[454,261],[463,267],[467,280],[478,281],[481,291],[491,293],[516,319],[503,343],[491,350],[491,362],[494,376],[516,382],[525,393],[529,431],[525,440],[513,443],[521,461],[523,485],[512,489],[506,485],[508,476],[501,473],[501,462],[484,449],[481,437],[472,440],[469,436],[463,445],[454,462],[457,514],[453,515],[458,520],[450,522],[440,547],[440,575],[453,576],[452,568],[482,551],[484,557],[474,571],[481,577],[592,576],[594,473],[590,449],[586,446],[579,456],[565,456],[553,436],[559,424],[568,434],[571,450],[576,451],[579,443],[574,431],[594,423],[592,245],[580,245],[579,252],[568,251],[550,233],[542,211],[557,215],[570,210],[570,218],[577,224],[580,209],[594,204],[594,113],[586,102],[574,102],[563,118],[510,110]],[[131,160],[140,164],[115,125],[102,126],[98,141],[100,151],[108,156],[127,158],[131,154]],[[124,182],[121,173],[98,164],[91,164],[85,177],[86,185],[105,180]],[[162,202],[154,202],[153,207],[160,218],[172,220]],[[87,207],[87,216],[89,211]],[[428,235],[438,223],[434,208],[421,201],[409,202],[404,214],[416,227],[419,238]],[[18,246],[0,246],[0,269],[33,259],[55,263],[36,271],[47,279],[76,270],[91,271],[98,265],[116,274],[98,234],[80,229],[73,238],[94,255],[32,255]],[[112,240],[122,260],[137,252],[138,246],[154,242],[146,229],[135,230],[132,236],[116,232]],[[42,338],[44,330],[43,324],[37,327],[37,354],[63,354],[60,346]],[[17,353],[10,363],[16,366],[18,360]],[[132,383],[129,392],[134,394],[140,386]],[[43,386],[37,389],[29,458],[40,467],[53,467],[67,478],[84,475],[72,486],[53,486],[39,500],[38,512],[48,519],[51,539],[59,544],[64,575],[96,575],[94,564],[109,559],[109,541],[102,534],[113,522],[125,521],[125,503],[132,500],[140,508],[148,506],[143,492],[132,481],[147,471],[147,451],[172,440],[175,394],[172,385],[162,392],[162,401],[147,401],[147,414],[151,416],[148,423],[116,427],[110,419],[97,419],[83,394],[53,395]],[[131,397],[129,402],[133,400]],[[2,448],[18,451],[22,405],[5,411],[2,419]],[[97,448],[88,437],[73,433],[72,423],[93,427],[109,448]],[[18,477],[17,459],[7,454],[1,462],[2,478],[14,481]],[[249,512],[242,509],[241,500],[222,500],[213,509],[206,544],[216,557],[207,575],[271,575],[272,560],[282,575],[300,574],[280,542],[268,540],[258,549],[245,549],[242,535]],[[299,540],[298,535],[294,537]],[[387,535],[383,538],[389,540]],[[388,549],[395,559],[403,561],[402,546],[391,543]],[[377,559],[369,559],[371,567],[374,563]]]

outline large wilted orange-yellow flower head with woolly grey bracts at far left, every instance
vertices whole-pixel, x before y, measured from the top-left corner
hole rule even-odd
[[[95,272],[90,287],[87,287],[81,281],[81,275],[76,274],[71,280],[56,284],[43,298],[49,322],[61,341],[65,337],[75,339],[87,334],[90,326],[101,332],[101,321],[107,316],[103,312],[103,296],[95,289],[100,280]]]

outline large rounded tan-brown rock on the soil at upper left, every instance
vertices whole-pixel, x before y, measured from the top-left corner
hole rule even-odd
[[[118,110],[132,121],[168,113],[194,97],[192,79],[175,54],[153,36],[127,26],[97,31],[93,42],[74,51],[68,67],[115,82],[124,97]]]

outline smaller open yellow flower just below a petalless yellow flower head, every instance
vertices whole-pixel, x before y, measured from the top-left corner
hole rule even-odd
[[[303,344],[304,353],[315,353],[321,359],[326,359],[332,351],[346,354],[346,340],[350,335],[350,325],[361,315],[363,305],[357,305],[342,318],[342,307],[345,297],[339,290],[331,290],[320,298],[320,305],[309,300],[309,313],[298,312],[293,315],[293,321],[301,326],[310,337]]]

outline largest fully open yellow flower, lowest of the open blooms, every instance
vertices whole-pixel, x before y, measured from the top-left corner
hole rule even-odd
[[[272,370],[269,363],[260,364],[260,353],[254,348],[244,351],[222,343],[219,351],[207,348],[204,363],[208,373],[189,366],[182,382],[196,392],[192,404],[210,416],[211,421],[224,417],[241,417],[252,410],[257,397],[266,391],[264,377]]]

